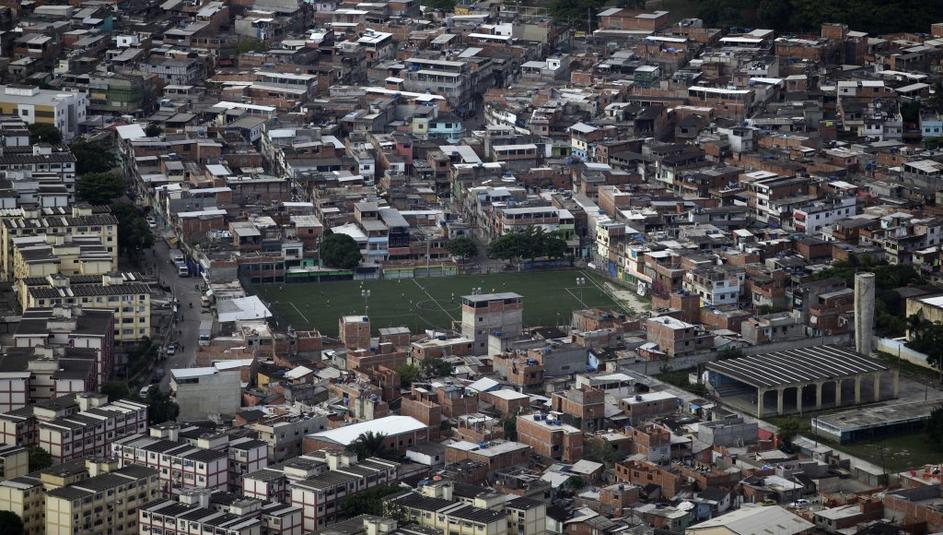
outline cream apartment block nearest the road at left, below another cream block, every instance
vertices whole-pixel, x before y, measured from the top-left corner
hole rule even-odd
[[[78,305],[110,310],[114,337],[136,342],[151,335],[151,291],[135,273],[106,275],[48,275],[19,281],[23,310]]]

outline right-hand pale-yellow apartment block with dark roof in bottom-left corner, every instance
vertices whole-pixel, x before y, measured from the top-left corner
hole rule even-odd
[[[138,508],[158,496],[157,471],[138,465],[109,469],[94,469],[92,477],[46,493],[47,534],[138,533]]]

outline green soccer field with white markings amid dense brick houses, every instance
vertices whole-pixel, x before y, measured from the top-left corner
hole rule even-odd
[[[582,287],[577,277],[584,277]],[[462,319],[461,296],[475,288],[481,293],[517,292],[524,296],[524,324],[557,325],[570,322],[570,312],[587,307],[617,305],[603,291],[604,279],[582,270],[492,273],[423,279],[334,281],[265,284],[253,287],[269,306],[279,326],[315,328],[337,334],[337,320],[363,314],[365,305],[374,331],[381,327],[448,329]],[[364,303],[362,290],[370,290]]]

